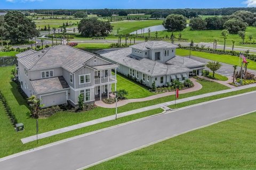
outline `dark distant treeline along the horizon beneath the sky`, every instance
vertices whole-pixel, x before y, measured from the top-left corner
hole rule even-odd
[[[182,14],[187,18],[197,16],[197,15],[230,15],[235,13],[236,11],[251,11],[256,12],[256,8],[254,7],[228,7],[228,8],[202,8],[202,9],[92,9],[92,10],[20,10],[24,13],[37,13],[37,14],[53,14],[53,15],[73,15],[78,11],[84,11],[88,14],[97,14],[100,16],[111,16],[112,14],[137,14],[137,13],[145,13],[147,15],[151,15],[153,17],[166,17],[169,14]],[[0,10],[0,12],[7,12],[9,10]]]

